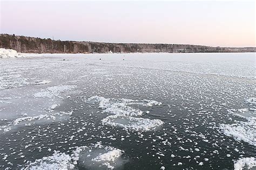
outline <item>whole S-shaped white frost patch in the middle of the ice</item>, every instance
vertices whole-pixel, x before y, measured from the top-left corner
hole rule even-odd
[[[102,120],[103,125],[122,127],[126,131],[150,131],[156,130],[157,127],[164,124],[159,119],[136,118],[143,115],[143,111],[134,108],[134,105],[151,107],[161,105],[160,102],[154,100],[132,100],[132,99],[113,99],[93,96],[87,99],[89,103],[97,102],[99,108],[103,108],[103,113],[111,113]]]

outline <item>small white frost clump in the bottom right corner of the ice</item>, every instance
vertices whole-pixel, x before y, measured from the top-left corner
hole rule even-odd
[[[256,159],[254,157],[249,158],[240,158],[237,161],[234,161],[234,170],[242,169],[254,169],[256,168]]]

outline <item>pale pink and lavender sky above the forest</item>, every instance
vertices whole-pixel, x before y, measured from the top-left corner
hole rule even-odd
[[[0,33],[92,42],[255,47],[255,2],[0,0]]]

